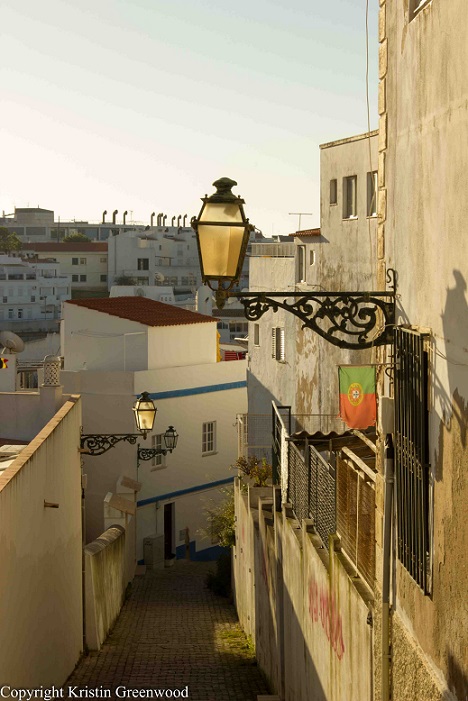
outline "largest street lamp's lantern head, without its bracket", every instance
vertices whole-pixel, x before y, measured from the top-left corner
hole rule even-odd
[[[253,226],[245,217],[244,200],[231,191],[237,185],[235,180],[220,178],[213,185],[216,192],[202,197],[203,206],[192,226],[197,234],[202,280],[216,293],[216,303],[222,309],[229,290],[239,282]]]

